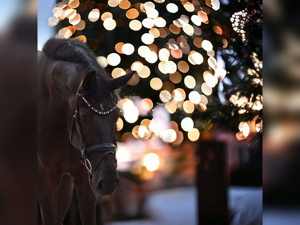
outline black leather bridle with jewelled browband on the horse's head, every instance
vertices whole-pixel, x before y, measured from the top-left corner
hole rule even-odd
[[[79,85],[79,88],[78,88],[78,91],[76,93],[76,97],[77,96],[81,96],[80,94],[80,87],[82,85],[82,82],[80,83]],[[100,110],[96,110],[95,108],[91,107],[91,109],[93,111],[95,111],[95,113],[98,113],[98,114],[108,114],[110,112],[112,112],[118,105],[119,103],[119,96],[116,96],[117,97],[117,100],[116,100],[116,103],[115,105],[108,111],[100,111]],[[85,103],[90,107],[91,105],[88,103],[88,101],[83,97],[81,96],[81,98],[83,99],[83,101],[85,101]],[[76,123],[76,127],[77,127],[77,131],[78,131],[78,134],[79,134],[79,137],[80,137],[80,144],[81,144],[81,157],[78,157],[79,160],[81,161],[81,163],[83,165],[86,166],[86,168],[88,169],[88,180],[89,180],[89,183],[91,185],[91,189],[94,190],[93,188],[93,185],[92,185],[92,176],[98,166],[98,164],[100,163],[100,161],[104,158],[104,156],[112,153],[115,157],[115,164],[116,164],[116,168],[117,168],[117,158],[116,158],[116,149],[117,149],[117,137],[115,138],[115,144],[112,144],[112,143],[104,143],[104,144],[98,144],[98,145],[93,145],[93,146],[90,146],[90,147],[87,147],[83,141],[83,137],[82,137],[82,131],[81,131],[81,127],[80,127],[80,123],[79,123],[79,113],[78,113],[78,102],[77,102],[78,98],[76,98],[76,111],[75,111],[75,114],[73,116],[73,119],[72,119],[72,123],[71,123],[71,127],[70,127],[70,130],[69,130],[69,137],[70,137],[70,142],[72,144],[72,130],[73,130],[73,124],[74,124],[74,121]],[[117,126],[116,126],[116,130],[117,130]],[[95,164],[94,167],[91,166],[91,163],[90,161],[87,159],[87,156],[88,154],[90,154],[91,152],[96,152],[96,151],[101,151],[101,152],[104,152],[101,157],[99,158],[99,160],[97,161],[97,163]]]

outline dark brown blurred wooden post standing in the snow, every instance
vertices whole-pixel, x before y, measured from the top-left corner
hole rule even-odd
[[[229,224],[224,143],[200,141],[197,158],[198,224]]]

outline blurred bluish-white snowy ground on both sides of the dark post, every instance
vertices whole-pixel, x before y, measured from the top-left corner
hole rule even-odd
[[[231,225],[262,224],[262,188],[230,187],[228,197],[229,209],[235,213]],[[150,219],[116,221],[107,225],[197,224],[195,187],[152,192],[146,199],[145,207]]]

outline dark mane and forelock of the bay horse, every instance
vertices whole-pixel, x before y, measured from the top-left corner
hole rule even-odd
[[[86,91],[85,96],[89,96],[87,98],[91,105],[94,106],[103,103],[104,99],[113,103],[113,89],[111,88],[109,79],[105,76],[91,49],[82,41],[74,38],[51,38],[46,42],[42,51],[47,57],[54,60],[80,64],[85,73],[95,70],[96,82]],[[79,85],[84,76],[78,77],[75,82]],[[74,99],[70,99],[69,101],[73,100]]]

